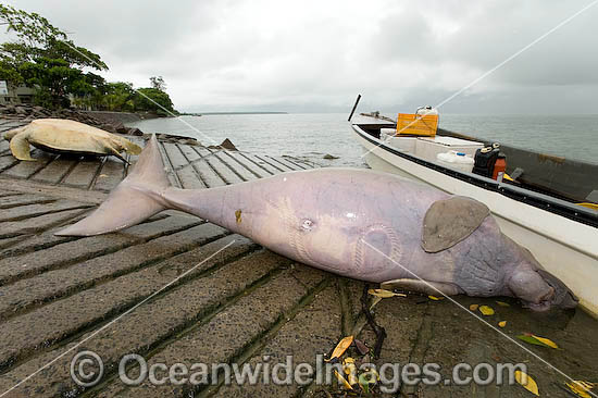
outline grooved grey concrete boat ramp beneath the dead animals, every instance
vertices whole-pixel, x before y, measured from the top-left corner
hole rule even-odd
[[[0,121],[0,129],[22,124]],[[145,142],[142,137],[132,139]],[[184,188],[312,167],[294,158],[210,149],[186,139],[162,137],[160,142],[171,182]],[[113,158],[64,158],[39,150],[34,154],[36,162],[18,162],[8,142],[0,142],[0,397],[364,396],[359,386],[348,391],[315,382],[276,385],[260,378],[239,386],[234,380],[227,384],[223,372],[216,378],[209,374],[208,385],[167,380],[154,385],[147,378],[136,386],[123,383],[119,363],[132,353],[144,357],[148,366],[269,363],[273,368],[294,356],[295,365],[306,362],[315,369],[317,355],[327,357],[340,338],[352,333],[373,348],[376,336],[362,312],[364,284],[296,263],[216,225],[172,211],[115,234],[57,237],[53,232],[101,202],[126,175],[127,166]],[[129,161],[135,163],[134,158]],[[465,308],[472,303],[495,308],[497,314],[484,320],[493,326],[507,320],[501,332],[509,337],[530,331],[558,341],[563,350],[525,348],[575,378],[598,381],[595,361],[587,355],[595,351],[596,324],[583,312],[552,318],[547,324],[515,302],[500,307],[490,299],[458,300]],[[472,366],[523,362],[543,396],[566,394],[562,374],[479,322],[481,314],[447,299],[386,298],[373,312],[387,334],[374,363],[433,362],[443,375],[439,385],[401,385],[384,396],[530,396],[516,384],[444,382],[460,362]],[[103,362],[103,376],[90,387],[77,385],[71,371],[73,358],[85,350]],[[358,362],[363,359],[354,347],[349,352]],[[127,374],[134,378],[139,368],[129,366]]]

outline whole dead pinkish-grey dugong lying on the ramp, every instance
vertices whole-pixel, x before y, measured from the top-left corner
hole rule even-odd
[[[473,199],[365,169],[317,169],[179,189],[169,183],[155,136],[108,199],[57,235],[104,234],[165,209],[197,215],[290,259],[383,287],[511,296],[534,310],[577,303]]]

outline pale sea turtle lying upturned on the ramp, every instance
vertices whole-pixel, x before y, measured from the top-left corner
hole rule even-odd
[[[35,160],[29,144],[48,152],[110,156],[126,162],[124,150],[132,154],[141,148],[126,138],[87,124],[63,119],[38,119],[4,135],[10,140],[12,154],[18,160]]]

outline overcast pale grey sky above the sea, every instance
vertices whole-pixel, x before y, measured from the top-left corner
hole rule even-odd
[[[182,111],[390,113],[437,104],[580,11],[584,0],[43,1],[109,80],[162,75]],[[598,4],[441,107],[598,113]],[[3,37],[5,39],[5,35]]]

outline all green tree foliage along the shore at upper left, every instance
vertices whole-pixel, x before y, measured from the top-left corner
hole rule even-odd
[[[21,84],[34,87],[37,104],[58,109],[72,102],[92,110],[176,112],[162,76],[150,77],[150,88],[135,90],[130,83],[107,83],[100,75],[84,72],[107,71],[108,66],[100,55],[76,46],[43,16],[0,4],[0,24],[16,37],[0,45],[0,79],[12,88]]]

